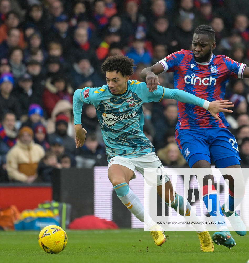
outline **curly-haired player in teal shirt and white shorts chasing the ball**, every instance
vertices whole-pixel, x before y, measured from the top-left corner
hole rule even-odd
[[[107,85],[98,88],[86,87],[75,91],[73,98],[75,142],[77,148],[84,144],[86,130],[81,125],[81,111],[83,103],[92,104],[96,108],[106,145],[106,155],[109,162],[108,178],[121,202],[149,229],[153,230],[151,235],[155,244],[161,246],[166,240],[164,233],[150,217],[146,222],[144,221],[143,206],[128,185],[131,179],[136,178],[134,175],[135,170],[143,175],[143,168],[163,167],[155,155],[152,143],[143,133],[143,102],[176,99],[203,107],[209,110],[211,115],[217,119],[219,119],[218,112],[231,112],[231,110],[224,108],[233,105],[227,101],[210,103],[187,92],[167,89],[162,86],[158,86],[154,92],[149,92],[146,83],[129,80],[129,77],[133,74],[133,66],[133,60],[128,57],[109,57],[101,66],[102,71],[106,73]],[[179,200],[180,214],[184,214],[183,198],[175,194],[174,199],[172,184],[167,175],[165,175],[164,181],[158,176],[158,194],[162,196],[162,184],[164,183],[166,203],[169,205],[169,200],[174,200],[171,206],[177,210]],[[189,203],[187,203],[187,209],[190,211]],[[201,242],[201,250],[213,251],[209,233],[207,231],[197,232]]]

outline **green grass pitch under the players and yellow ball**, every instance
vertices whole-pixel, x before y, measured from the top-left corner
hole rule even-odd
[[[47,254],[38,245],[38,232],[0,232],[0,262],[167,262],[167,263],[246,263],[249,235],[231,232],[237,246],[231,250],[214,245],[203,253],[195,232],[167,232],[162,247],[154,244],[149,232],[141,229],[73,231],[67,230],[68,245],[59,254]],[[213,232],[210,232],[212,235]]]

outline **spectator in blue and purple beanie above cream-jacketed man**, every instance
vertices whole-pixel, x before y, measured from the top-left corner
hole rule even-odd
[[[23,122],[22,126],[28,126],[35,129],[37,125],[45,124],[43,117],[43,109],[39,104],[30,104],[28,111],[28,119]]]

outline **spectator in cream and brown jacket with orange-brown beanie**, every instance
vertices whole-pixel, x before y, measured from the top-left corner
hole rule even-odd
[[[7,154],[7,173],[10,180],[32,183],[37,178],[37,167],[45,151],[33,141],[30,127],[20,129],[15,146]]]

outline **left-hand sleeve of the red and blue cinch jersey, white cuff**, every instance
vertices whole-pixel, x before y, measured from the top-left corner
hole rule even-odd
[[[183,58],[184,58],[184,51],[180,50],[168,55],[166,58],[158,61],[157,63],[163,65],[164,68],[163,72],[173,72],[178,68]]]

